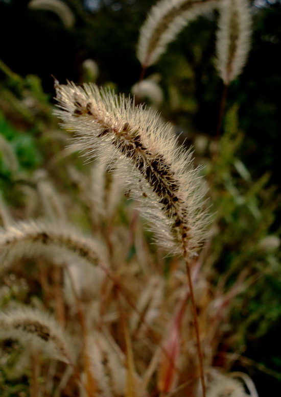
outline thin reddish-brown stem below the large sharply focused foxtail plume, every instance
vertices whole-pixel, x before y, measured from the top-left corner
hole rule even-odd
[[[190,288],[190,297],[191,297],[191,304],[192,304],[192,311],[193,311],[193,324],[196,334],[196,342],[197,342],[197,352],[198,352],[198,360],[199,360],[199,371],[200,371],[200,380],[202,385],[203,397],[206,397],[206,385],[204,379],[204,367],[203,367],[203,355],[202,355],[202,348],[201,348],[201,341],[200,341],[200,332],[199,332],[199,324],[197,319],[197,311],[196,311],[196,304],[194,298],[194,291],[193,291],[193,284],[191,279],[191,268],[190,268],[190,259],[186,253],[185,248],[184,250],[184,261],[185,261],[185,268],[186,274],[188,275],[188,282]]]

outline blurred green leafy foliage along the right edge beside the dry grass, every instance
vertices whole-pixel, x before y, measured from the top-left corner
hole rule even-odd
[[[226,114],[220,155],[206,170],[218,222],[209,262],[217,270],[218,285],[233,283],[241,271],[248,277],[246,290],[233,310],[236,333],[230,336],[230,345],[234,337],[245,356],[278,372],[279,354],[275,349],[281,316],[281,279],[279,246],[274,241],[278,241],[280,228],[276,230],[273,225],[280,196],[276,187],[269,186],[269,172],[253,180],[237,157],[245,141],[238,128],[238,110],[238,106],[233,106]],[[267,339],[267,334],[275,335],[274,339]],[[253,376],[259,395],[266,395],[264,382],[279,387],[280,377],[274,376],[273,380],[269,375]]]

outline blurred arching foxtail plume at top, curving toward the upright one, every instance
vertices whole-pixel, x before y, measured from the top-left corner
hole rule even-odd
[[[197,16],[212,10],[218,0],[161,0],[140,29],[137,58],[143,67],[155,63],[181,29]]]

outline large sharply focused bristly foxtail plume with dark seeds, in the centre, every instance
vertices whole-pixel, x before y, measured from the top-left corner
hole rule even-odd
[[[192,154],[178,147],[169,125],[130,98],[96,85],[58,85],[56,114],[89,156],[119,159],[124,183],[150,221],[158,241],[194,255],[208,222],[204,188]]]

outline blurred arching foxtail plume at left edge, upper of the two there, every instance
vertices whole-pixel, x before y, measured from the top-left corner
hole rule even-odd
[[[36,255],[51,258],[71,256],[92,264],[107,263],[102,242],[83,236],[66,222],[21,221],[0,231],[2,266],[8,266],[18,258]]]

